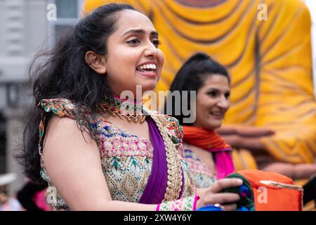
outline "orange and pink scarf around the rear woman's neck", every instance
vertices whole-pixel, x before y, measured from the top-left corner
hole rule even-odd
[[[193,146],[203,148],[215,154],[216,174],[222,179],[235,171],[232,162],[232,148],[216,131],[208,131],[199,127],[183,126],[183,141]]]

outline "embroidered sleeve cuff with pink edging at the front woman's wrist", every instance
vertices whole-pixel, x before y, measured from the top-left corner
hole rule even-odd
[[[190,196],[175,201],[168,201],[157,205],[156,211],[195,211],[199,196]]]

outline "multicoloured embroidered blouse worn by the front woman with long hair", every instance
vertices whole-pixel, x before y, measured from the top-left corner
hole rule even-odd
[[[45,114],[53,112],[60,117],[70,117],[75,120],[77,107],[67,99],[58,98],[40,101],[39,108],[44,110],[40,124],[39,152],[41,154]],[[195,186],[189,165],[183,159],[183,133],[178,121],[173,117],[151,110],[147,110],[147,113],[156,122],[166,146],[168,186],[164,202],[187,198],[185,201],[193,204]],[[84,115],[88,115],[88,112]],[[147,139],[119,129],[108,122],[101,111],[96,116],[96,121],[88,122],[88,120],[85,120],[82,121],[82,124],[90,126],[96,135],[103,174],[112,200],[138,203],[152,169],[152,153],[154,150],[152,143]],[[69,210],[58,191],[51,186],[42,157],[41,167],[41,177],[48,182],[48,196],[52,198],[50,203],[53,210]],[[183,187],[181,193],[179,186],[180,188]],[[192,207],[186,206],[185,209],[190,208],[192,210]]]

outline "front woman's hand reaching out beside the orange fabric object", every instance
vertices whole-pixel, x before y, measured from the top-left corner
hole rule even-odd
[[[199,200],[197,201],[197,208],[205,205],[223,205],[223,210],[232,211],[237,210],[237,201],[240,200],[240,196],[237,193],[219,193],[224,188],[230,188],[235,186],[241,186],[241,179],[220,179],[216,181],[209,188],[198,188],[197,195]]]

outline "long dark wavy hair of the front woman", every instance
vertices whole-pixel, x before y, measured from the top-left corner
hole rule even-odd
[[[29,67],[29,83],[34,94],[34,105],[27,113],[29,117],[23,134],[22,152],[17,158],[25,175],[37,184],[46,183],[39,175],[39,122],[42,111],[37,108],[37,104],[41,99],[67,98],[78,108],[88,108],[93,115],[96,113],[97,103],[104,96],[112,96],[106,79],[90,68],[85,54],[87,51],[101,55],[107,53],[107,39],[116,30],[119,11],[126,9],[136,10],[128,4],[100,6],[81,18],[52,50],[37,54],[32,61]],[[46,124],[51,117],[49,113],[46,115]],[[80,118],[77,124],[81,127],[79,121]]]

